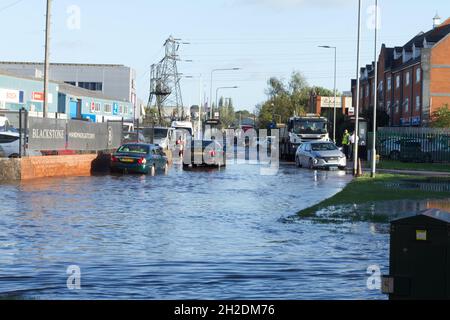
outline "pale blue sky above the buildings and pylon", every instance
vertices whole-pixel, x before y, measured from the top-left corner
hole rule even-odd
[[[380,0],[380,45],[402,45],[429,30],[439,12],[450,16],[448,0]],[[362,63],[373,57],[373,30],[363,1]],[[80,9],[80,28],[68,27],[68,8]],[[190,44],[180,49],[180,72],[185,105],[197,104],[200,87],[209,96],[210,71],[214,87],[224,90],[238,109],[252,111],[264,101],[267,79],[288,79],[303,72],[310,85],[333,86],[333,52],[338,47],[338,89],[348,91],[356,73],[357,0],[54,0],[51,59],[53,62],[118,63],[137,71],[138,96],[148,100],[149,67],[162,58],[169,35]],[[1,0],[0,60],[42,61],[45,0]],[[69,23],[70,26],[70,23]],[[200,85],[200,75],[203,85]]]

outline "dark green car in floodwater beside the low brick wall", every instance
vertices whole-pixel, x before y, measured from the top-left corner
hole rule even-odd
[[[154,144],[124,144],[111,156],[111,171],[155,175],[169,171],[169,161],[162,148]]]

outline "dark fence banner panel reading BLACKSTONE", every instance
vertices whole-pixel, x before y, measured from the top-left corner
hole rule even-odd
[[[29,118],[28,149],[64,150],[66,148],[66,121]]]

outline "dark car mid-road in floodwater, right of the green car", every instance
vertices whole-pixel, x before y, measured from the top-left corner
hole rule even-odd
[[[215,140],[191,140],[183,156],[186,167],[223,167],[226,165],[225,149]]]

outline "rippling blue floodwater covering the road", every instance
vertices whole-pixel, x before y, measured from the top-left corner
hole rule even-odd
[[[291,220],[350,177],[251,165],[168,176],[0,185],[0,296],[19,299],[384,299],[388,227]],[[67,288],[69,266],[81,290]]]

